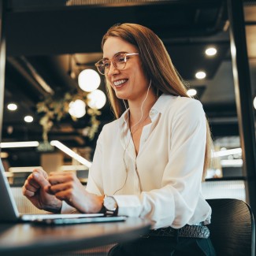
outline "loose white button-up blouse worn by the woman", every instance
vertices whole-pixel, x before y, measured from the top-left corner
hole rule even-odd
[[[161,95],[136,156],[126,111],[98,137],[87,191],[113,195],[118,215],[147,217],[153,228],[210,223],[202,197],[206,117],[193,98]]]

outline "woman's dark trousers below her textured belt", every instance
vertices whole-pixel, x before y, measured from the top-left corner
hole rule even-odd
[[[108,256],[216,256],[208,239],[184,237],[148,237],[118,243]]]

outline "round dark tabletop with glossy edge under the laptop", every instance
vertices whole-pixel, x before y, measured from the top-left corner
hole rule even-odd
[[[124,222],[39,226],[0,224],[0,255],[46,255],[120,243],[147,233],[150,221],[138,217]]]

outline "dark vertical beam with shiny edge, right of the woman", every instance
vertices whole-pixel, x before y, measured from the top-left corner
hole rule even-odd
[[[256,215],[255,128],[242,0],[228,0],[228,18],[243,176],[246,177],[247,202]]]

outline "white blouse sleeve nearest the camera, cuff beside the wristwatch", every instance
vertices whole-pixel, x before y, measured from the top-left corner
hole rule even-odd
[[[206,149],[206,116],[202,104],[196,100],[184,101],[173,106],[172,111],[176,113],[168,121],[169,161],[162,177],[162,187],[143,191],[139,196],[114,196],[119,215],[147,217],[153,221],[154,228],[180,228],[196,221],[196,217],[191,218],[195,216],[201,193]],[[209,213],[208,206],[203,207],[202,213],[197,213],[200,220],[205,217],[200,214],[206,215],[207,210]]]

